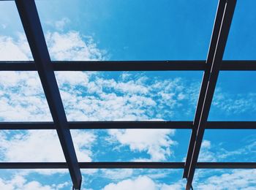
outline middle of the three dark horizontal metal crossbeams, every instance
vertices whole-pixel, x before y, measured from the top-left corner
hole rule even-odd
[[[69,129],[192,129],[192,121],[70,121]],[[53,122],[0,122],[0,130],[56,129]],[[256,121],[208,121],[206,129],[256,129]]]

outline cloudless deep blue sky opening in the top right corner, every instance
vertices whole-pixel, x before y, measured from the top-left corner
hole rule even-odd
[[[255,60],[256,1],[237,1],[224,59]]]

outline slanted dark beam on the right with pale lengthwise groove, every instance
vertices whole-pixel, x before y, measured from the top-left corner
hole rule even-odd
[[[223,5],[224,9],[223,9]],[[200,152],[200,147],[203,140],[203,134],[206,129],[206,121],[211,107],[211,102],[214,96],[214,90],[219,75],[219,69],[222,63],[225,45],[227,43],[227,36],[230,31],[230,25],[233,18],[233,13],[236,7],[236,0],[220,0],[217,12],[217,18],[214,23],[214,31],[212,35],[211,47],[208,53],[208,64],[211,64],[211,70],[205,72],[205,83],[202,83],[200,96],[197,106],[197,113],[195,115],[194,136],[192,136],[189,144],[189,151],[187,161],[184,169],[184,176],[187,176],[186,189],[192,187],[192,180],[195,174],[195,167]],[[221,20],[221,22],[219,22]],[[217,30],[219,28],[219,31]],[[217,41],[216,41],[217,36]],[[216,44],[216,45],[215,45]],[[214,49],[215,46],[215,49]],[[203,91],[205,90],[205,91]],[[203,101],[202,101],[203,99]]]

